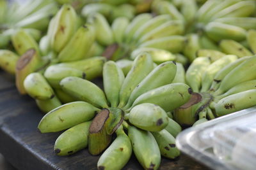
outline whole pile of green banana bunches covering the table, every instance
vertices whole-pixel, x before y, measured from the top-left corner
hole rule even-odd
[[[47,113],[40,132],[66,130],[57,155],[157,169],[180,125],[256,105],[255,1],[56,2],[0,0],[0,67]]]

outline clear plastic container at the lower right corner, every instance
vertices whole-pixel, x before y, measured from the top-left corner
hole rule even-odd
[[[191,127],[178,148],[212,169],[256,169],[256,106]]]

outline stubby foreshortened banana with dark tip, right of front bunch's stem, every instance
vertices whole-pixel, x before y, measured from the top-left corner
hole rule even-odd
[[[125,115],[129,122],[145,131],[158,132],[168,125],[168,116],[166,112],[151,103],[142,103],[134,106],[129,113]]]

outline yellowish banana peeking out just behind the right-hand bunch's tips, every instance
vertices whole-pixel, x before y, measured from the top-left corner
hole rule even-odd
[[[225,56],[225,53],[219,52],[217,50],[206,50],[206,49],[200,49],[196,52],[197,57],[208,57],[211,62],[214,62],[221,57]]]

